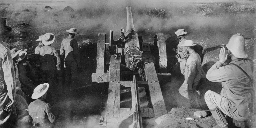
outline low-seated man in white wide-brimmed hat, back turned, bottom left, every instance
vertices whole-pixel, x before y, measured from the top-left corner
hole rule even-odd
[[[44,102],[48,83],[40,84],[34,89],[32,99],[36,99],[28,106],[28,113],[33,119],[33,123],[39,128],[53,128],[55,116],[51,112],[51,105]]]

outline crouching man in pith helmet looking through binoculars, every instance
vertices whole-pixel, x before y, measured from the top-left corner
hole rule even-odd
[[[217,122],[214,128],[228,128],[222,113],[239,122],[248,120],[253,113],[254,63],[247,59],[244,46],[244,37],[240,33],[233,35],[226,47],[221,48],[220,60],[206,74],[208,80],[222,84],[220,94],[210,90],[205,93],[205,102]],[[228,56],[232,61],[223,66]]]

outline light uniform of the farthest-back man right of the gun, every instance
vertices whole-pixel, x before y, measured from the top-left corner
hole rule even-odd
[[[181,47],[181,45],[184,45],[184,41],[186,39],[183,38],[179,41],[179,44],[178,44],[178,49],[177,49],[177,54],[180,55],[180,58],[178,58],[178,62],[180,63],[180,71],[181,71],[181,74],[184,75],[184,69],[185,69],[185,64],[186,64],[186,58],[188,56],[188,53],[183,50],[183,47]]]

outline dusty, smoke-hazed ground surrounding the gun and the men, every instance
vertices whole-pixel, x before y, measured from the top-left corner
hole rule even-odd
[[[178,44],[174,34],[177,29],[185,29],[186,39],[193,40],[203,46],[203,68],[207,70],[218,61],[219,45],[226,44],[229,38],[241,33],[246,39],[246,52],[250,59],[255,59],[255,24],[254,11],[235,11],[240,8],[254,8],[253,1],[232,0],[153,0],[142,1],[83,1],[83,0],[8,0],[0,1],[1,16],[7,17],[9,26],[19,21],[29,23],[29,34],[25,42],[31,44],[32,49],[37,46],[35,40],[39,35],[52,32],[56,39],[53,47],[60,49],[61,41],[68,35],[65,30],[75,27],[80,31],[75,37],[81,46],[81,62],[84,71],[79,73],[79,84],[72,92],[61,92],[58,82],[55,82],[56,94],[49,101],[58,117],[57,127],[62,128],[102,128],[98,125],[102,113],[101,106],[106,104],[101,99],[106,98],[107,84],[91,82],[91,74],[96,72],[96,43],[98,33],[114,31],[114,39],[119,38],[119,30],[126,26],[127,5],[132,6],[135,29],[144,42],[153,42],[155,33],[164,33],[167,48],[168,72],[171,72],[171,82],[160,81],[162,94],[168,114],[157,119],[143,119],[146,128],[210,128],[216,125],[212,116],[185,120],[193,116],[195,109],[190,109],[188,100],[178,93],[183,78],[177,74],[180,71],[172,48]],[[232,6],[229,3],[233,3]],[[52,10],[44,10],[45,6]],[[71,6],[74,12],[63,12],[66,6]],[[152,8],[165,9],[166,17],[150,17],[148,12]],[[233,9],[233,10],[232,10]],[[20,13],[20,14],[18,14]],[[108,42],[108,38],[107,38]],[[12,42],[13,43],[13,42]],[[28,47],[28,46],[25,46]],[[175,65],[176,64],[176,65]],[[212,90],[220,93],[220,83],[209,82],[200,88],[202,93]],[[203,95],[201,96],[203,100]],[[127,102],[128,103],[128,102]],[[205,108],[207,110],[207,108]],[[195,118],[195,117],[194,117]],[[128,127],[128,126],[126,126]]]

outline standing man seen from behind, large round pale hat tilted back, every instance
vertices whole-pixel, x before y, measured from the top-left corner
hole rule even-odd
[[[45,45],[41,47],[39,54],[41,57],[41,76],[42,82],[47,82],[50,85],[50,90],[52,90],[56,69],[61,70],[60,66],[60,56],[57,50],[51,46],[54,42],[55,36],[52,33],[44,34],[42,38],[42,43]]]

